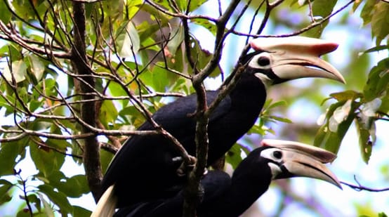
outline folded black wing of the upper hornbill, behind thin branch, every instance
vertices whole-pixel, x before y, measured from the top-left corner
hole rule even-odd
[[[208,105],[213,102],[217,95],[218,91],[206,92]],[[176,137],[190,154],[194,154],[195,150],[196,119],[193,114],[196,107],[197,96],[192,94],[161,107],[152,116],[154,121],[157,121],[166,131]],[[209,123],[223,117],[230,110],[230,107],[231,100],[226,97],[211,114]],[[152,125],[146,121],[138,130],[152,129]],[[124,188],[124,185],[132,185],[131,193],[134,195],[132,198],[136,198],[137,194],[145,196],[140,186],[152,186],[155,190],[160,190],[164,188],[161,187],[162,185],[174,185],[177,182],[180,183],[179,180],[185,180],[185,178],[177,177],[176,170],[181,162],[175,162],[173,158],[179,157],[180,153],[169,143],[170,141],[161,135],[131,136],[112,159],[103,179],[103,190],[113,184],[120,189]],[[152,183],[153,180],[159,180],[158,185]],[[136,185],[138,186],[136,187]],[[128,191],[130,190],[128,189]],[[127,192],[119,191],[116,193],[125,195]]]

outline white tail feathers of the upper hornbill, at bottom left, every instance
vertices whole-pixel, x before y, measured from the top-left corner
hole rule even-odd
[[[110,217],[114,215],[116,209],[117,197],[114,195],[114,185],[105,190],[103,196],[100,197],[95,211],[91,217]]]

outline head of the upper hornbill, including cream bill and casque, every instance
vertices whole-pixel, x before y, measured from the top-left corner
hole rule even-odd
[[[345,83],[334,66],[320,58],[338,44],[308,37],[258,38],[250,42],[255,52],[243,60],[265,85],[303,77],[324,77]]]

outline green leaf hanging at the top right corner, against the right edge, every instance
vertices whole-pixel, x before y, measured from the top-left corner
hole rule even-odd
[[[376,46],[381,44],[389,34],[389,4],[379,1],[374,6],[374,13],[371,16],[371,35],[376,37]]]

